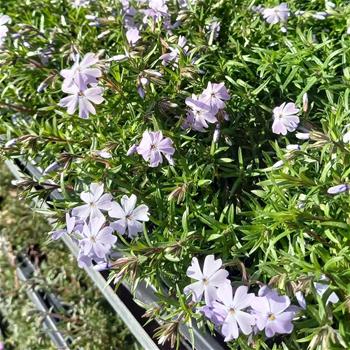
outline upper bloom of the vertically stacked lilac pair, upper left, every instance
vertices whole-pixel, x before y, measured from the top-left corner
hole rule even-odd
[[[89,52],[83,57],[81,62],[79,61],[80,56],[76,55],[72,68],[61,70],[60,75],[64,78],[63,91],[64,88],[69,88],[72,85],[77,85],[80,90],[85,90],[88,84],[97,84],[97,78],[102,76],[100,69],[92,67],[98,62],[96,54]]]

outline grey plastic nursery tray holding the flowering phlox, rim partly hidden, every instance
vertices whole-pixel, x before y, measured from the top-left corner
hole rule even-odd
[[[6,160],[5,163],[15,178],[18,180],[21,179],[23,177],[22,175],[24,174],[30,175],[35,180],[39,180],[42,176],[42,171],[38,167],[23,160]],[[57,190],[52,191],[50,197],[52,199],[62,199],[62,195]],[[49,207],[47,203],[43,203],[42,201],[40,201],[40,206],[46,208]],[[62,238],[72,254],[74,256],[77,256],[79,251],[77,244],[73,242],[73,240],[67,235],[64,235]],[[119,253],[121,254],[121,252]],[[170,349],[169,345],[167,344],[165,346],[158,345],[156,339],[153,338],[154,330],[159,324],[161,324],[161,322],[158,324],[150,322],[144,326],[145,319],[142,318],[143,311],[133,301],[133,296],[130,292],[130,286],[127,283],[123,282],[121,284],[121,287],[116,292],[113,288],[113,284],[106,284],[106,274],[98,272],[92,267],[85,268],[85,271],[144,349]],[[152,286],[146,285],[146,283],[139,283],[135,292],[135,297],[145,305],[155,305],[158,301],[157,297],[155,296],[154,289]],[[192,344],[191,330],[189,327],[184,323],[180,324],[180,333],[182,336],[180,349],[227,349],[227,347],[223,345],[220,340],[215,339],[208,333],[200,331],[196,327],[194,321],[192,332],[194,344]]]

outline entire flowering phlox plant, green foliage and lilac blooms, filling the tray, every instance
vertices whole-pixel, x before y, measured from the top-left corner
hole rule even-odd
[[[349,348],[350,5],[0,8],[1,154],[45,170],[18,185],[50,241],[151,283],[160,343],[195,320],[231,349]]]

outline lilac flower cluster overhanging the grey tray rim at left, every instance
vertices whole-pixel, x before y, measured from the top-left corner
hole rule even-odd
[[[85,203],[66,214],[66,229],[52,232],[52,239],[70,235],[79,245],[78,264],[80,267],[108,264],[108,254],[117,241],[113,232],[135,238],[143,231],[143,222],[149,220],[148,207],[136,207],[137,198],[124,195],[120,204],[104,193],[104,185],[92,183],[88,192],[80,194]],[[106,214],[108,213],[108,222]],[[114,219],[117,219],[114,221]]]

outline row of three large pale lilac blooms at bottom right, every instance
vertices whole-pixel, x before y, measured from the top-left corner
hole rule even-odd
[[[203,271],[197,258],[192,259],[187,276],[196,282],[184,289],[192,294],[194,302],[204,295],[205,306],[198,308],[225,336],[225,341],[237,339],[240,333],[249,335],[265,331],[268,338],[275,334],[290,334],[293,319],[299,307],[291,305],[286,295],[279,295],[267,286],[260,288],[258,295],[248,293],[247,286],[233,289],[229,273],[222,269],[221,259],[206,256]]]

